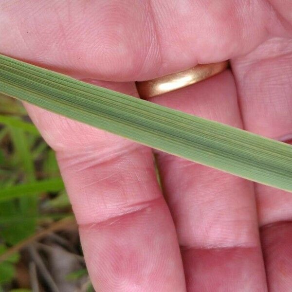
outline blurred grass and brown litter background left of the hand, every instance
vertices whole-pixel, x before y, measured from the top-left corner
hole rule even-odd
[[[72,239],[68,237],[78,237],[72,217],[54,151],[41,138],[23,106],[0,95],[0,291],[63,292],[72,285],[75,291],[92,291],[79,239],[74,246],[66,247]],[[71,219],[71,223],[59,228],[56,224],[60,219]],[[58,240],[53,240],[53,235]],[[51,255],[54,248],[60,248],[68,258],[78,258],[76,265],[70,264],[72,271],[63,277],[69,284],[54,279],[58,264],[54,266],[37,244],[44,245],[42,249],[51,248]],[[37,264],[35,252],[45,272]]]

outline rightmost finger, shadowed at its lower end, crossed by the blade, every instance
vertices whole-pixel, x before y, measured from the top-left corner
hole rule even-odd
[[[233,70],[245,128],[274,139],[291,139],[292,41],[271,39],[234,60]],[[287,291],[290,288],[284,287],[292,285],[292,229],[290,223],[281,222],[292,220],[292,196],[261,184],[256,184],[256,194],[269,286],[271,291]]]

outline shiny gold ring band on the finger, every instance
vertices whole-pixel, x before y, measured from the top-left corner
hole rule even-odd
[[[227,67],[228,61],[197,65],[178,73],[136,82],[136,87],[140,97],[147,99],[200,82],[224,71]]]

